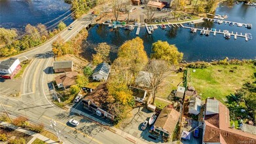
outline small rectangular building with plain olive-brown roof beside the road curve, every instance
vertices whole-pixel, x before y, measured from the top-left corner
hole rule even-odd
[[[73,61],[62,61],[53,63],[54,73],[73,71]]]

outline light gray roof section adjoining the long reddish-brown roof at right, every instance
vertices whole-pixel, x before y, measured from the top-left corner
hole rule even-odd
[[[206,115],[219,113],[219,101],[217,99],[208,98],[206,102]]]

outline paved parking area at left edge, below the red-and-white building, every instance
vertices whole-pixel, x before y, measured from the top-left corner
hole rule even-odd
[[[0,94],[4,96],[18,95],[20,92],[20,80],[0,79]]]

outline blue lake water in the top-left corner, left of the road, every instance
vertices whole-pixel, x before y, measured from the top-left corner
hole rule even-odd
[[[0,27],[16,28],[22,32],[27,24],[36,26],[48,22],[46,26],[52,28],[71,13],[70,9],[71,5],[64,0],[0,0]],[[73,19],[64,22],[69,25]]]

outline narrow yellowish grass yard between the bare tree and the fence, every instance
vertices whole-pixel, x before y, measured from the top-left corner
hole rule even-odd
[[[167,99],[172,90],[176,90],[180,82],[183,81],[183,73],[168,73],[168,76],[164,79],[163,87],[158,90],[156,97]]]

